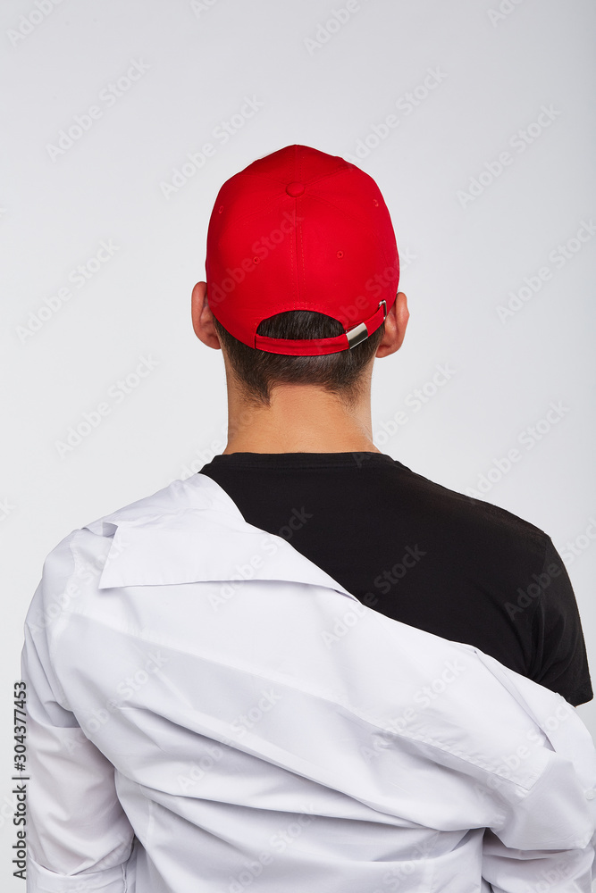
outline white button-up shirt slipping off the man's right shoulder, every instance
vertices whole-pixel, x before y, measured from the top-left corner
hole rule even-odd
[[[596,877],[596,750],[575,707],[362,605],[206,475],[55,547],[21,671],[29,893]]]

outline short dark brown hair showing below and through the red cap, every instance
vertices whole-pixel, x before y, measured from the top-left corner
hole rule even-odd
[[[292,356],[270,354],[249,347],[234,338],[214,318],[231,368],[249,402],[271,405],[271,388],[278,382],[321,385],[351,405],[356,402],[363,385],[363,372],[370,363],[385,331],[385,323],[360,344],[336,354]],[[340,321],[325,313],[310,310],[289,310],[263,320],[256,333],[271,338],[330,338],[344,331]]]

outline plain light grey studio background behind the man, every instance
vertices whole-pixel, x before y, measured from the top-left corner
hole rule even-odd
[[[390,208],[411,320],[375,363],[375,444],[550,534],[596,668],[594,4],[13,0],[1,18],[5,889],[22,889],[10,711],[44,558],[222,452],[222,355],[194,336],[190,290],[223,180],[281,146],[357,159]],[[246,97],[257,111],[242,118]],[[97,263],[102,242],[113,256]],[[135,378],[142,358],[151,371]],[[451,372],[433,388],[438,365]],[[578,709],[593,735],[596,706]]]

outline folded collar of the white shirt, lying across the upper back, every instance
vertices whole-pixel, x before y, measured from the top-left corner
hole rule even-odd
[[[326,586],[358,601],[286,539],[248,524],[225,490],[200,472],[84,529],[113,537],[100,589],[196,580],[292,580]]]

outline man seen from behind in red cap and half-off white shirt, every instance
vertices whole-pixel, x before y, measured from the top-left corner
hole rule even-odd
[[[227,447],[72,531],[27,614],[30,890],[591,889],[575,597],[541,530],[374,447],[398,283],[353,165],[223,185],[192,319]]]

